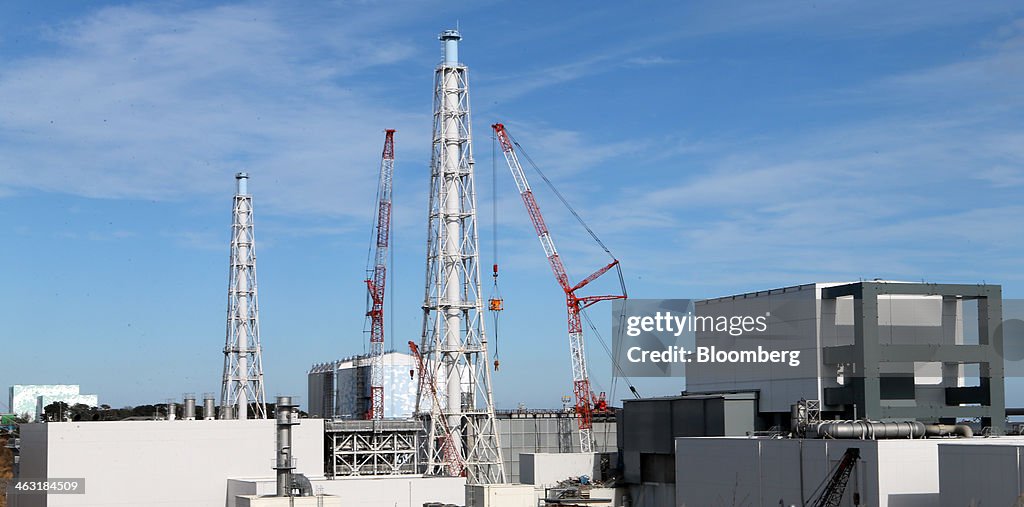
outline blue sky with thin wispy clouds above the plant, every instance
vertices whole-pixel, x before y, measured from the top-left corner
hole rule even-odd
[[[312,363],[366,348],[384,128],[389,340],[419,340],[436,35],[456,23],[484,265],[499,213],[499,407],[558,406],[570,372],[563,297],[501,160],[492,196],[495,121],[633,297],[873,278],[1024,297],[1020,2],[7,2],[0,385],[79,383],[115,406],[218,391],[246,170],[267,391],[304,395]],[[601,265],[538,199],[573,278]]]

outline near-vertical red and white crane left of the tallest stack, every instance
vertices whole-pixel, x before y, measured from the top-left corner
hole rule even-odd
[[[367,318],[370,320],[370,408],[367,419],[384,417],[384,285],[387,249],[391,239],[391,178],[394,175],[394,129],[384,131],[380,182],[377,186],[377,245],[373,268],[368,268]]]

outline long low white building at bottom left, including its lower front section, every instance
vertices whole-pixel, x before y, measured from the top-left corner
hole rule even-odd
[[[8,505],[257,505],[237,497],[273,494],[274,426],[272,419],[25,424],[19,476],[81,477],[85,494],[23,495],[9,498]],[[292,427],[291,451],[295,472],[309,477],[314,491],[341,497],[345,505],[461,504],[465,496],[463,477],[326,480],[321,419],[302,419]]]

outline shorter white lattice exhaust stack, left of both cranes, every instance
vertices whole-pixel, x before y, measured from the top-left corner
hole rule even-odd
[[[220,387],[222,419],[266,419],[263,358],[256,297],[256,250],[249,175],[234,175],[231,255],[227,282],[227,337]],[[255,413],[250,416],[252,405]]]

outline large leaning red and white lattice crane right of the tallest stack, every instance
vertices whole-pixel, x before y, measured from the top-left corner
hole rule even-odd
[[[541,208],[534,198],[534,191],[530,189],[529,181],[526,179],[522,166],[519,164],[519,158],[516,156],[512,138],[505,129],[505,125],[496,123],[492,125],[492,128],[495,130],[498,142],[502,145],[505,160],[508,162],[509,170],[512,171],[512,177],[515,179],[522,203],[526,206],[526,213],[529,214],[529,219],[534,223],[537,236],[541,240],[541,246],[544,247],[544,254],[548,257],[551,270],[555,273],[555,280],[558,282],[558,286],[562,288],[562,291],[565,292],[565,308],[568,313],[569,356],[572,360],[572,394],[575,397],[575,412],[579,418],[580,448],[584,453],[591,453],[594,450],[594,440],[591,434],[594,412],[606,411],[607,403],[605,402],[603,392],[599,396],[596,396],[590,388],[590,373],[587,369],[587,354],[584,349],[581,312],[584,308],[599,301],[625,299],[626,294],[624,290],[621,295],[578,296],[577,291],[608,272],[612,267],[616,267],[618,260],[612,257],[611,262],[594,271],[593,274],[587,277],[582,282],[575,285],[569,282],[565,265],[558,255],[558,250],[555,249],[555,242],[551,238],[548,225],[544,222]]]

